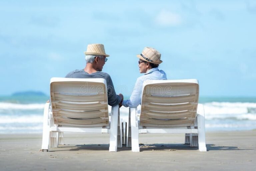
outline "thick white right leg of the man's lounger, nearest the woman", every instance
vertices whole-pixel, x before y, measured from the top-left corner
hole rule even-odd
[[[109,151],[117,151],[119,106],[116,105],[112,108],[113,108],[113,114],[111,116],[111,123],[110,123]]]

